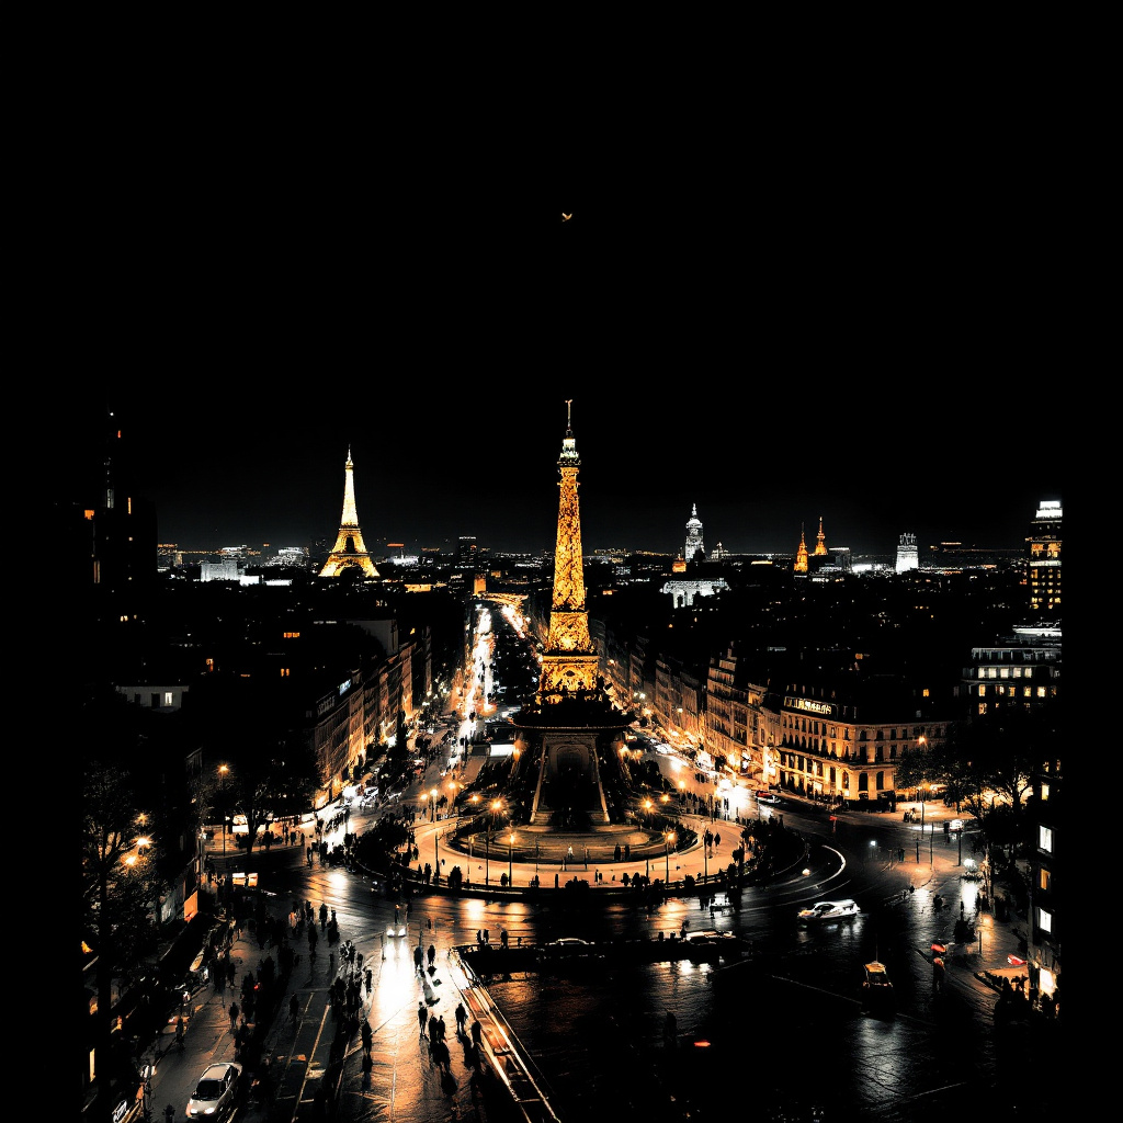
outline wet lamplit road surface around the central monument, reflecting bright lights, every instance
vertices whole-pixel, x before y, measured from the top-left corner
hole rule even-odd
[[[414,882],[409,895],[393,901],[382,888],[385,870],[348,870],[318,859],[309,867],[301,847],[255,850],[250,859],[257,870],[254,897],[271,914],[283,916],[296,903],[310,903],[313,911],[325,905],[337,917],[341,944],[350,941],[372,973],[360,1021],[373,1030],[373,1070],[362,1070],[356,1039],[343,1058],[338,1086],[326,1089],[335,1059],[327,994],[340,968],[339,946],[321,941],[316,961],[305,955],[294,970],[289,992],[298,996],[301,1016],[291,1026],[275,1026],[268,1039],[271,1068],[284,1076],[281,1110],[286,1120],[323,1117],[318,1113],[325,1111],[328,1093],[339,1120],[378,1119],[387,1112],[420,1123],[473,1117],[472,1050],[453,1050],[446,1080],[419,1041],[419,1002],[430,1016],[444,1015],[449,1026],[460,1002],[485,1022],[492,1061],[510,1078],[508,1106],[513,1108],[515,1089],[526,1097],[512,1119],[568,1123],[609,1117],[611,1106],[615,1114],[642,1110],[651,1119],[701,1120],[742,1104],[736,1086],[716,1097],[700,1095],[693,1079],[700,1063],[709,1072],[749,1066],[752,1079],[767,1084],[754,1097],[761,1119],[916,1123],[943,1117],[964,1096],[996,1106],[1016,1101],[1019,1088],[1006,1076],[995,1034],[996,995],[982,975],[1008,968],[1008,957],[1016,958],[1020,950],[1020,933],[1016,924],[997,922],[978,909],[979,883],[964,877],[977,837],[969,821],[964,834],[946,834],[943,823],[956,812],[942,804],[926,804],[923,824],[906,820],[905,805],[896,814],[847,810],[832,818],[823,805],[789,795],[769,804],[741,787],[721,789],[719,801],[706,801],[715,788],[700,783],[688,761],[676,752],[652,752],[678,793],[672,800],[692,809],[679,814],[696,836],[686,849],[668,844],[661,855],[629,861],[615,860],[608,846],[599,851],[593,844],[586,864],[583,849],[569,856],[565,836],[536,838],[532,848],[518,828],[506,829],[506,846],[496,831],[497,844],[490,841],[484,855],[472,843],[471,852],[454,849],[449,836],[456,813],[441,810],[432,793],[450,784],[471,788],[485,760],[484,754],[466,751],[483,728],[484,700],[493,688],[484,645],[481,638],[467,676],[472,685],[466,683],[463,694],[455,688],[449,696],[455,710],[435,719],[436,729],[455,720],[453,736],[440,742],[420,775],[382,804],[351,803],[346,827],[325,833],[335,848],[343,844],[345,831],[362,833],[382,815],[411,811],[419,855],[411,866],[431,861],[442,871],[440,887]],[[695,806],[709,811],[702,814]],[[330,820],[338,807],[322,809],[321,818]],[[714,874],[729,865],[742,824],[755,819],[782,822],[800,847],[794,860],[764,884],[747,886],[733,902],[714,889]],[[720,834],[711,850],[702,841],[706,829]],[[637,830],[636,837],[641,834]],[[220,844],[218,839],[209,843],[211,856]],[[230,862],[237,859],[228,857],[225,865]],[[453,894],[444,883],[457,862],[468,867],[472,887]],[[665,900],[643,907],[622,892],[624,875],[638,874],[666,880]],[[505,888],[500,885],[503,875]],[[531,892],[536,877],[541,887]],[[693,894],[683,892],[687,877],[695,880]],[[588,885],[579,906],[564,888],[574,878]],[[843,897],[859,903],[857,916],[814,929],[796,922],[798,910]],[[944,907],[937,907],[938,897]],[[951,937],[960,915],[970,921],[970,935],[957,942]],[[668,940],[703,929],[736,935],[749,950],[747,959],[645,964],[615,969],[612,976],[594,969],[568,975],[559,989],[533,974],[480,978],[456,951],[484,933],[496,946],[503,939],[530,946],[559,939]],[[946,967],[937,969],[934,946],[946,948]],[[431,987],[414,969],[419,947],[433,949]],[[247,939],[235,951],[241,969],[264,953]],[[862,965],[874,959],[886,964],[894,983],[895,1010],[886,1019],[862,1010]],[[668,1013],[677,1024],[669,1066],[670,1054],[663,1051],[670,1048],[664,1037]],[[222,1032],[213,995],[200,1002],[199,1024],[189,1041],[207,1017],[212,1025],[207,1058],[231,1057],[232,1039]],[[800,1051],[818,1042],[816,1063],[793,1067],[783,1053],[761,1052],[754,1024],[768,1025],[768,1041],[788,1048],[800,1043]],[[611,1028],[608,1041],[605,1026]],[[830,1029],[842,1026],[844,1032]],[[201,1034],[192,1044],[199,1040]],[[200,1070],[197,1056],[166,1051],[153,1079],[154,1105],[186,1102]],[[613,1078],[621,1056],[640,1080]],[[501,1119],[496,1101],[489,1104],[487,1117]],[[536,1105],[532,1114],[527,1114],[529,1104]],[[1023,1104],[1020,1117],[1037,1117],[1031,1108],[1040,1106]],[[250,1123],[271,1116],[250,1102],[238,1117]]]

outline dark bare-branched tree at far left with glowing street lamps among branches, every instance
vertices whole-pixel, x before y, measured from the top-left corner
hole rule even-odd
[[[99,1067],[110,1071],[113,980],[130,975],[155,940],[154,903],[161,878],[150,818],[138,814],[128,772],[92,761],[83,779],[82,925],[97,953],[98,1013],[94,1048]],[[95,1117],[107,1119],[110,1080],[99,1081]]]

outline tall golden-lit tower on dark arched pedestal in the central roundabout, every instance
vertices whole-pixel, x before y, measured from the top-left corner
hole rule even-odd
[[[537,764],[529,825],[559,830],[611,822],[600,760],[617,764],[634,714],[609,700],[596,674],[597,654],[588,631],[585,570],[581,553],[577,472],[581,457],[566,402],[566,433],[558,469],[558,533],[554,551],[550,628],[542,651],[535,702],[512,719],[515,747],[528,767]]]

